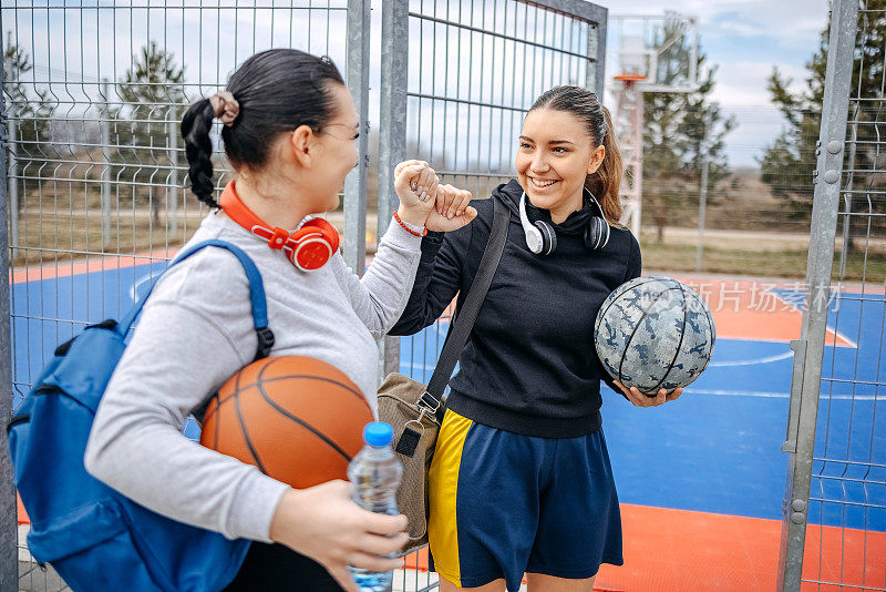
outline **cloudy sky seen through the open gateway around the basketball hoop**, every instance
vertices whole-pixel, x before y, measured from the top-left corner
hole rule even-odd
[[[661,14],[666,9],[699,19],[701,48],[719,64],[713,98],[739,126],[728,137],[733,166],[756,166],[754,156],[775,137],[783,119],[772,106],[766,78],[772,67],[805,86],[804,64],[827,22],[827,0],[597,0],[609,14]],[[614,49],[614,48],[610,48]],[[611,51],[610,51],[611,55]],[[607,74],[612,64],[607,64]]]

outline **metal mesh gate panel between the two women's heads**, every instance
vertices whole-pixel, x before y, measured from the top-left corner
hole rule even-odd
[[[602,96],[606,19],[574,0],[384,2],[378,220],[395,207],[381,197],[395,197],[393,166],[406,156],[475,197],[515,176],[516,139],[539,94],[579,84]],[[430,379],[425,360],[445,331],[434,335],[403,338],[412,358],[401,372]],[[400,343],[385,340],[385,371],[398,370]]]

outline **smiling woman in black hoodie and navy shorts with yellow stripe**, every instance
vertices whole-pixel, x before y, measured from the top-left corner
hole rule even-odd
[[[405,163],[404,163],[405,164]],[[640,247],[619,225],[621,155],[608,111],[557,86],[526,115],[517,180],[492,195],[511,211],[507,243],[450,382],[430,473],[429,535],[441,590],[589,591],[601,563],[620,565],[621,519],[601,429],[600,380],[638,407],[646,397],[602,370],[594,321],[604,299],[640,275]],[[441,192],[460,215],[470,195]],[[476,220],[429,233],[406,309],[391,330],[431,325],[477,272],[492,200]]]

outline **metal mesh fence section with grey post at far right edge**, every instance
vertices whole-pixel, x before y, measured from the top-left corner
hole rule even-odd
[[[859,8],[861,4],[861,8]],[[806,312],[795,351],[779,590],[886,590],[883,277],[870,269],[884,195],[884,6],[834,0]],[[847,286],[846,249],[862,254]],[[833,273],[833,282],[832,282]],[[835,347],[826,329],[848,336]],[[874,359],[872,364],[869,360]],[[867,360],[867,361],[863,361]]]

